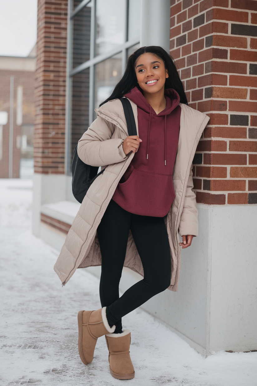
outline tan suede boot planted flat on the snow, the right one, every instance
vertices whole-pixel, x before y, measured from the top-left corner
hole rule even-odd
[[[106,334],[105,339],[109,350],[109,364],[113,378],[134,378],[134,367],[129,355],[130,331],[124,330],[122,334]]]

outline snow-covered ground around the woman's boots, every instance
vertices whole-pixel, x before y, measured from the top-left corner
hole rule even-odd
[[[1,386],[256,386],[257,352],[203,359],[142,310],[124,317],[136,376],[109,374],[104,337],[85,366],[77,350],[77,312],[100,308],[98,279],[79,269],[62,288],[58,252],[31,233],[32,180],[0,179]]]

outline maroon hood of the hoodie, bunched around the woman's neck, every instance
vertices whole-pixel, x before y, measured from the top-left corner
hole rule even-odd
[[[148,114],[153,114],[156,116],[168,115],[173,111],[178,104],[180,103],[180,96],[178,93],[173,90],[173,88],[167,88],[164,90],[164,96],[166,99],[166,107],[159,114],[155,113],[155,110],[149,105],[144,95],[138,89],[138,87],[134,87],[129,93],[125,94],[124,97],[129,98],[132,102],[136,103],[136,105],[141,108],[144,112]]]

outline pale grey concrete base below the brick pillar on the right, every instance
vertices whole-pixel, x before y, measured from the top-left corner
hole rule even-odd
[[[182,250],[178,292],[142,308],[203,356],[257,350],[257,205],[197,206],[199,236]],[[88,269],[100,277],[101,267]],[[141,279],[124,268],[121,291]]]

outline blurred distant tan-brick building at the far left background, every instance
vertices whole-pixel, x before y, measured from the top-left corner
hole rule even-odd
[[[0,56],[0,178],[19,178],[21,159],[33,159],[35,54]]]

